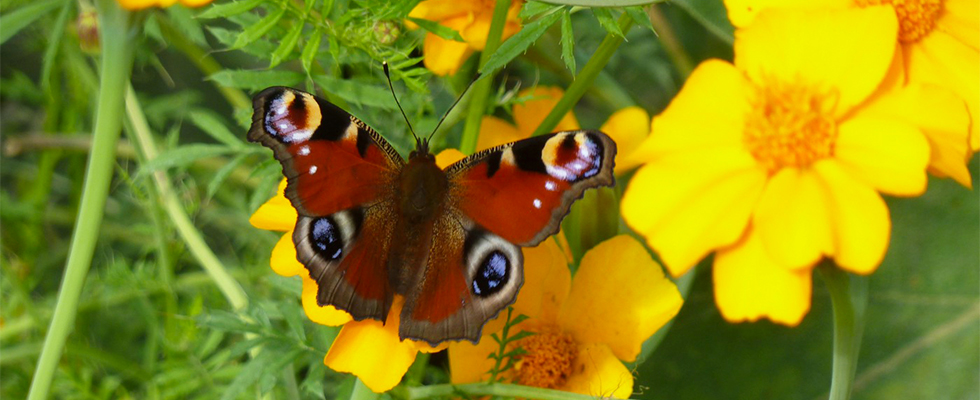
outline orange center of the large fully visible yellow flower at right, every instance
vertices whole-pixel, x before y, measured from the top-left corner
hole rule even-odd
[[[833,155],[836,92],[764,78],[750,100],[743,143],[770,173],[806,167]]]

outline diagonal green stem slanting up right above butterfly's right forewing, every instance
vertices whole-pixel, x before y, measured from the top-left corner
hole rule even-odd
[[[626,13],[623,13],[623,15],[619,17],[618,23],[619,29],[623,32],[623,35],[626,35],[626,33],[629,32],[630,27],[633,26],[633,19]],[[589,90],[593,82],[595,82],[596,77],[599,76],[602,69],[606,67],[607,63],[609,63],[609,59],[616,52],[616,49],[619,48],[619,45],[623,44],[623,40],[624,39],[622,37],[612,33],[606,34],[606,37],[602,39],[602,43],[599,44],[599,48],[596,49],[594,54],[592,54],[592,58],[590,58],[589,62],[582,67],[582,70],[575,76],[575,80],[568,86],[568,89],[565,90],[565,95],[561,97],[561,100],[558,100],[558,104],[555,104],[555,108],[551,109],[551,112],[549,112],[548,116],[541,121],[541,125],[538,125],[537,129],[534,130],[534,133],[531,134],[531,136],[543,135],[551,132],[556,126],[558,126],[558,122],[561,121],[561,118],[565,116],[565,114],[567,114],[568,111],[575,106],[575,103],[578,103],[579,99],[582,98],[582,95]]]

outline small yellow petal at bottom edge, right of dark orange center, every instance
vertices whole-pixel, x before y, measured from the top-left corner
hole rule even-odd
[[[572,371],[559,389],[595,398],[628,399],[633,394],[633,374],[603,344],[581,346]]]

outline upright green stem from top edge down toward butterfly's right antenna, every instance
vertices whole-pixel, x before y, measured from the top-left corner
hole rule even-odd
[[[490,56],[497,51],[500,46],[500,39],[504,33],[504,24],[507,23],[507,9],[510,8],[510,0],[497,0],[493,8],[493,19],[490,21],[490,32],[487,33],[487,44],[480,53],[480,67],[487,63]],[[478,68],[479,69],[479,68]],[[463,126],[463,139],[459,144],[459,150],[463,154],[471,154],[476,150],[476,139],[480,135],[480,122],[483,115],[487,112],[487,98],[490,96],[490,85],[493,84],[492,76],[482,77],[473,84],[470,93],[470,107],[467,109],[466,124]]]

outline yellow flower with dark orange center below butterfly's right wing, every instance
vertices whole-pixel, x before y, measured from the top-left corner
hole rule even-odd
[[[628,398],[633,376],[622,361],[636,360],[643,341],[680,310],[677,287],[646,249],[626,235],[586,253],[574,280],[553,240],[525,257],[535,262],[524,268],[514,311],[530,318],[515,330],[535,334],[517,342],[526,353],[501,377],[529,386]],[[495,351],[497,343],[486,336],[476,345],[451,344],[452,382],[489,379],[493,360],[487,356]]]

